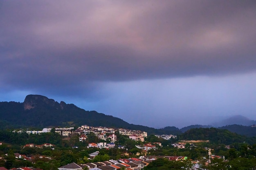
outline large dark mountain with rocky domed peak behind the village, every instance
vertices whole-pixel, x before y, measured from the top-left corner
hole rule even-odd
[[[117,117],[96,111],[86,111],[74,104],[58,103],[42,95],[27,95],[23,103],[0,102],[0,129],[81,125],[142,130],[149,135],[181,133],[178,129],[164,130],[129,124]]]

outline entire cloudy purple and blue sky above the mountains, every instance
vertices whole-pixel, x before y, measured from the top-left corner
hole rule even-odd
[[[256,120],[255,0],[0,1],[0,101],[154,128]]]

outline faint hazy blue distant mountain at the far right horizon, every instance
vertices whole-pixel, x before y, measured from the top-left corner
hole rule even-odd
[[[221,127],[221,126],[227,126],[227,125],[233,125],[233,124],[250,126],[250,125],[256,124],[256,121],[250,120],[247,117],[244,117],[242,115],[235,115],[227,119],[224,119],[222,121],[214,122],[211,125],[214,127]]]

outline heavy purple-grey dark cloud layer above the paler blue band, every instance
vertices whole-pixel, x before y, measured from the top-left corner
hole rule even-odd
[[[256,70],[254,0],[0,3],[7,91],[100,99],[106,82]]]

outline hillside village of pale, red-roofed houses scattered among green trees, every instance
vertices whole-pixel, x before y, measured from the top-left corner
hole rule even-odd
[[[199,170],[200,166],[211,170],[214,165],[232,164],[239,157],[253,160],[256,155],[256,145],[232,144],[228,140],[238,141],[241,137],[216,128],[192,129],[178,137],[148,136],[147,132],[140,130],[87,125],[0,133],[0,170],[151,170],[148,165],[157,160],[192,163],[190,170]],[[201,140],[204,135],[210,136],[211,142]],[[222,144],[219,136],[231,145]],[[185,140],[195,137],[200,140]],[[8,138],[16,145],[7,144]],[[32,142],[19,146],[22,141]]]

